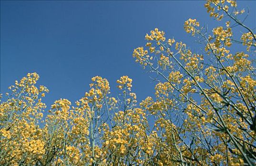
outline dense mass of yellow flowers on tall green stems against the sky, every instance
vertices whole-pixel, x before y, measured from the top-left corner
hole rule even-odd
[[[95,76],[80,100],[59,99],[50,110],[38,74],[15,81],[0,95],[0,165],[256,165],[256,35],[237,18],[244,10],[236,1],[207,0],[205,8],[229,20],[206,32],[196,19],[184,22],[205,43],[201,54],[158,28],[134,49],[135,62],[158,81],[140,103],[128,76],[116,81],[117,98]],[[244,30],[238,38],[236,26]]]

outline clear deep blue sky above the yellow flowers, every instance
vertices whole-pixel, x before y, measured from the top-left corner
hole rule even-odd
[[[27,73],[37,72],[50,92],[44,102],[74,102],[89,90],[93,76],[107,78],[113,96],[122,75],[133,79],[138,100],[154,95],[154,82],[132,57],[144,46],[150,30],[184,41],[199,52],[184,21],[217,25],[205,1],[0,1],[0,90]],[[256,28],[256,1],[238,1],[249,8],[246,24]]]

